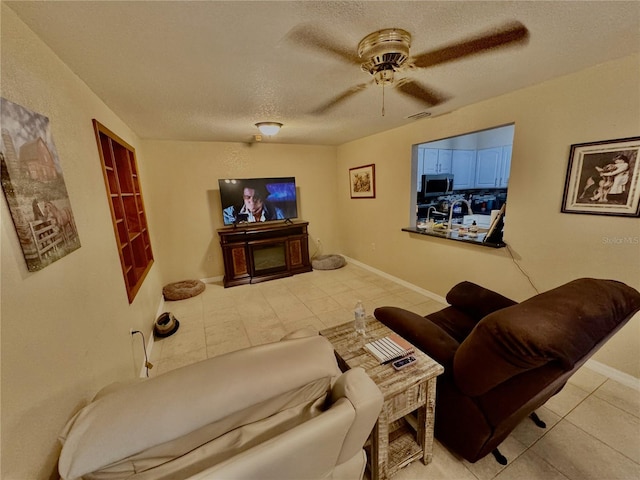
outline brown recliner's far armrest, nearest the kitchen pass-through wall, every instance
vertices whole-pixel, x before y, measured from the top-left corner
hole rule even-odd
[[[490,313],[518,303],[493,290],[466,281],[449,290],[446,298],[452,307],[462,310],[477,322]]]

